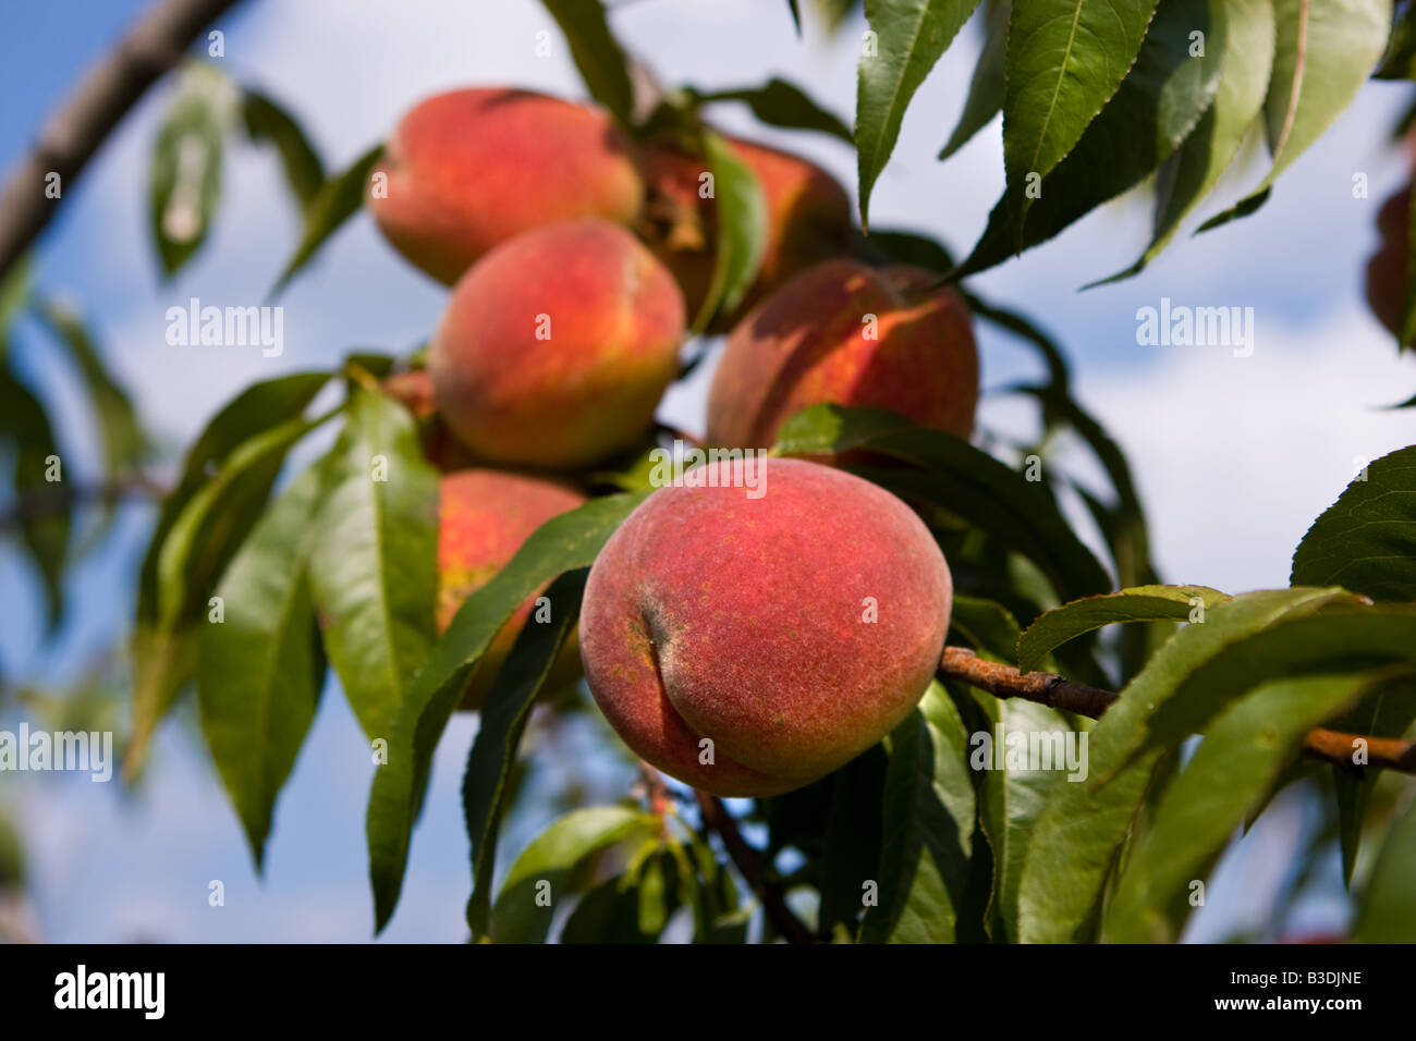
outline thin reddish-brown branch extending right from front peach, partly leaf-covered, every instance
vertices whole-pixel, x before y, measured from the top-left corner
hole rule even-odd
[[[966,647],[944,647],[939,674],[986,690],[1000,698],[1022,698],[1078,715],[1099,718],[1116,698],[1113,691],[1072,683],[1051,673],[1020,673],[1012,666],[988,661]],[[1357,741],[1366,742],[1366,765],[1402,773],[1416,773],[1416,742],[1374,738],[1362,734],[1314,729],[1303,741],[1303,753],[1352,770]]]

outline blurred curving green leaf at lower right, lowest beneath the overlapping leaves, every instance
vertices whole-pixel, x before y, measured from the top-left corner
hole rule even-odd
[[[1204,878],[1245,817],[1263,804],[1308,729],[1385,678],[1385,673],[1320,673],[1273,680],[1215,717],[1129,857],[1107,906],[1106,939],[1175,942],[1184,922],[1171,921],[1165,909],[1188,911],[1188,887]]]

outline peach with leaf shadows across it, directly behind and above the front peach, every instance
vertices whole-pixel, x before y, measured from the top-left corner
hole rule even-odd
[[[770,448],[807,405],[891,408],[967,438],[978,350],[953,289],[922,268],[827,261],[792,279],[728,339],[708,394],[708,440]]]

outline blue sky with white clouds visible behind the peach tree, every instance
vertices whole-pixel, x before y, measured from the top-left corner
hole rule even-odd
[[[0,167],[33,135],[76,76],[106,52],[142,4],[55,0],[4,4],[0,40]],[[221,68],[283,102],[303,123],[327,169],[343,169],[381,140],[419,99],[463,85],[511,84],[571,98],[583,91],[554,23],[532,0],[248,0],[218,25]],[[855,57],[864,24],[827,38],[809,21],[797,40],[786,3],[770,0],[630,0],[613,27],[668,84],[756,85],[777,75],[807,89],[847,122],[854,112]],[[552,50],[535,55],[537,34]],[[939,237],[957,252],[977,238],[1003,186],[998,122],[947,163],[935,156],[953,127],[978,50],[969,25],[909,109],[899,146],[872,198],[872,225]],[[971,280],[997,303],[1041,323],[1065,346],[1080,401],[1129,453],[1150,511],[1154,555],[1167,581],[1228,592],[1287,585],[1293,547],[1362,465],[1416,440],[1416,412],[1381,411],[1416,391],[1416,364],[1396,357],[1362,300],[1362,271],[1375,248],[1375,215],[1408,171],[1386,143],[1406,102],[1400,85],[1368,84],[1357,103],[1286,173],[1255,217],[1182,237],[1141,276],[1079,292],[1127,266],[1146,245],[1148,198],[1133,194],[1073,225],[1059,239]],[[58,218],[41,242],[35,283],[79,303],[105,357],[140,415],[174,450],[255,380],[330,367],[353,348],[401,353],[423,340],[446,289],[405,263],[367,215],[351,221],[287,289],[285,354],[258,347],[170,347],[164,312],[195,296],[202,305],[261,303],[295,245],[297,214],[270,152],[238,143],[227,152],[224,198],[202,252],[164,283],[147,234],[147,164],[171,81],[153,89],[105,144],[81,181],[65,186]],[[726,130],[809,154],[854,195],[854,153],[838,142],[756,125],[721,106]],[[1264,156],[1226,177],[1204,217],[1263,174]],[[1354,198],[1354,174],[1369,197]],[[1252,306],[1252,357],[1222,347],[1140,347],[1136,312],[1177,305]],[[984,387],[1038,374],[1035,355],[988,327],[980,330]],[[16,334],[25,375],[45,391],[61,436],[79,465],[81,389],[55,367],[28,324]],[[664,402],[661,416],[702,428],[709,367]],[[984,398],[984,423],[1020,435],[1028,409]],[[306,453],[307,455],[307,453]],[[71,618],[45,643],[34,576],[0,548],[0,667],[44,681],[75,678],[122,639],[152,511],[125,508],[101,552],[71,576]],[[54,940],[365,940],[371,905],[364,804],[372,766],[337,687],[321,711],[276,807],[266,878],[251,868],[235,814],[187,718],[163,731],[146,786],[52,775],[4,778],[0,800],[17,803],[40,932]],[[415,836],[391,940],[460,940],[470,888],[460,776],[474,721],[455,719],[439,748],[432,790]],[[573,761],[590,725],[554,749]],[[599,779],[613,799],[627,780],[619,765]],[[552,790],[555,778],[545,779]],[[532,792],[532,796],[535,793]],[[539,813],[539,816],[538,816]],[[524,814],[514,851],[551,807]],[[1283,877],[1289,844],[1310,807],[1286,800],[1231,855],[1211,887],[1194,938],[1215,938],[1262,916]],[[207,902],[225,885],[225,906]],[[1242,881],[1240,881],[1242,880]],[[1304,908],[1313,928],[1331,925],[1341,901]]]

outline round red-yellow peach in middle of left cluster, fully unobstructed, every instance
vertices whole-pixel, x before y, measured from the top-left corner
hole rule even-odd
[[[607,221],[517,235],[457,283],[428,357],[449,429],[498,465],[572,469],[629,449],[678,372],[684,299]]]

